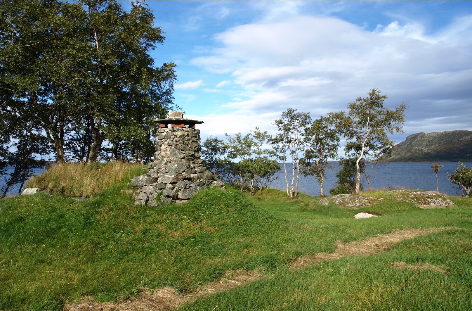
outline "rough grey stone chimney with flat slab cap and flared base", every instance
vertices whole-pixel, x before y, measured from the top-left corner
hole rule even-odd
[[[144,169],[145,174],[131,179],[131,185],[137,187],[133,194],[135,204],[184,203],[208,185],[223,185],[214,180],[200,159],[200,130],[195,129],[195,124],[203,122],[183,117],[182,112],[174,111],[169,113],[169,118],[156,120],[160,128],[154,162]]]

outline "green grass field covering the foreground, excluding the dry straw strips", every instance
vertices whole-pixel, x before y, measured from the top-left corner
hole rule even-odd
[[[448,197],[452,208],[421,209],[384,195],[377,205],[352,210],[303,194],[289,200],[278,190],[247,197],[211,188],[187,204],[153,208],[134,206],[120,191],[140,173],[134,168],[80,202],[60,193],[3,199],[1,309],[61,310],[84,296],[119,302],[163,286],[185,294],[239,270],[263,277],[179,310],[472,310],[470,198]],[[362,210],[384,216],[354,219]],[[334,251],[336,241],[440,226],[456,228],[370,257],[288,268],[304,254]],[[447,273],[395,268],[399,261]]]

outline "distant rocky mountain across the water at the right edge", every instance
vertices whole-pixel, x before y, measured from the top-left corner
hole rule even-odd
[[[472,161],[472,131],[416,133],[395,145],[388,162]]]

